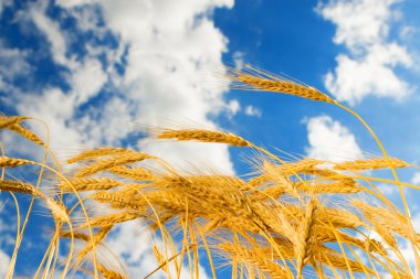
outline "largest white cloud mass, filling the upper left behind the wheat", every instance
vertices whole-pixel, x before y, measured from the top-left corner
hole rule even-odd
[[[74,4],[82,3],[88,1]],[[221,67],[221,55],[227,45],[227,39],[209,15],[217,7],[232,4],[229,0],[130,1],[124,6],[117,1],[101,2],[98,8],[104,14],[105,29],[118,39],[118,50],[87,44],[87,54],[82,58],[76,58],[69,45],[69,36],[76,34],[61,30],[59,22],[45,14],[46,7],[32,6],[29,15],[45,35],[54,62],[67,68],[63,77],[71,88],[65,92],[45,87],[36,96],[19,94],[18,111],[50,125],[53,150],[64,146],[118,144],[129,133],[129,124],[136,120],[154,126],[160,125],[161,119],[192,119],[203,127],[217,128],[210,117],[222,111],[232,116],[240,110],[240,104],[223,99],[228,84],[218,88],[206,86],[209,69]],[[83,18],[85,22],[98,11],[96,6],[84,6],[83,10],[83,13],[71,10],[69,14],[76,20]],[[92,30],[95,21],[88,21]],[[97,29],[103,32],[104,26]],[[99,63],[102,54],[108,58],[106,69]],[[126,65],[120,74],[114,63],[120,63],[123,55]],[[106,92],[107,97],[86,109],[84,105],[94,97],[105,96],[101,89],[107,83],[112,86]],[[139,146],[144,144],[140,142]],[[176,158],[180,149],[186,161],[195,158],[214,162],[212,168],[233,173],[225,146],[208,146],[199,153],[193,144],[181,148],[178,143],[167,142],[161,147],[167,151],[167,158]],[[159,148],[145,151],[155,150]],[[210,157],[214,160],[206,160]]]

